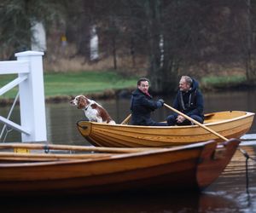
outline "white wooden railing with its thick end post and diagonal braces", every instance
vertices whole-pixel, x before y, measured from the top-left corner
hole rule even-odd
[[[43,52],[15,54],[17,60],[0,61],[0,75],[18,74],[0,89],[0,96],[19,85],[20,124],[0,115],[0,122],[21,133],[21,141],[46,141]]]

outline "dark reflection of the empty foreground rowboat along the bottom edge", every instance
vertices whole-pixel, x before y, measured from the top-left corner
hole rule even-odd
[[[27,203],[29,202],[29,204]],[[38,208],[40,206],[40,208]],[[70,197],[41,199],[12,199],[1,204],[2,210],[12,212],[236,212],[236,200],[211,193],[117,194],[108,197]],[[233,211],[223,211],[223,210]],[[235,210],[235,211],[234,211]],[[5,212],[7,212],[5,211]],[[220,211],[218,211],[220,212]]]

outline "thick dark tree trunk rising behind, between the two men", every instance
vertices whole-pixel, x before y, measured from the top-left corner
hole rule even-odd
[[[148,78],[155,93],[168,93],[177,88],[175,57],[169,54],[161,21],[160,1],[148,1],[149,68]]]

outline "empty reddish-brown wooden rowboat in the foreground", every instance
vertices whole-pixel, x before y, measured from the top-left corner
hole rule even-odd
[[[93,157],[90,153],[87,158],[55,156],[55,160],[49,159],[50,153],[41,153],[41,159],[37,160],[34,158],[37,153],[33,153],[33,162],[26,163],[20,155],[15,163],[8,162],[6,154],[5,162],[0,163],[0,194],[49,196],[130,190],[202,190],[229,164],[239,142],[233,139],[222,146],[216,141],[207,141],[172,148],[123,148],[125,152],[120,153],[113,148],[113,152],[104,156],[95,153]],[[14,160],[15,155],[10,158]]]

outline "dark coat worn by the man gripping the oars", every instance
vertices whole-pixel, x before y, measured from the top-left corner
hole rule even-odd
[[[154,125],[155,122],[150,118],[150,114],[160,107],[162,107],[160,101],[153,101],[152,96],[136,89],[131,93],[131,124]]]

